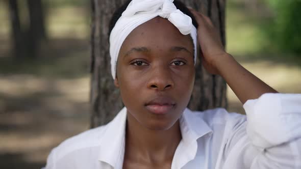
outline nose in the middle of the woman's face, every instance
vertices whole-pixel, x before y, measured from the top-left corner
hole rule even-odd
[[[174,83],[170,74],[170,70],[163,66],[154,68],[149,72],[150,77],[147,84],[147,88],[164,91],[173,88]]]

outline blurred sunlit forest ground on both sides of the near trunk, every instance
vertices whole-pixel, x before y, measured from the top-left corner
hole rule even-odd
[[[235,2],[235,0],[229,1]],[[89,18],[83,8],[49,10],[50,41],[35,61],[9,56],[9,20],[0,2],[0,168],[39,168],[62,140],[89,128]],[[285,93],[301,93],[301,60],[265,54],[258,17],[228,6],[227,50]],[[267,52],[268,53],[268,52]],[[229,110],[243,113],[228,89]]]

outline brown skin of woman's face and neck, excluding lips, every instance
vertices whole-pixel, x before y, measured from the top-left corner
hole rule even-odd
[[[123,168],[170,168],[194,85],[190,36],[161,17],[138,26],[120,49],[115,85],[128,109]],[[154,100],[172,108],[154,114],[145,107]]]

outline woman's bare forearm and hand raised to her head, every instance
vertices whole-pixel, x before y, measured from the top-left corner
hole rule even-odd
[[[221,75],[244,104],[264,93],[278,93],[258,77],[243,68],[232,55],[225,52],[211,20],[191,9],[198,22],[198,43],[202,50],[205,68],[212,74]]]

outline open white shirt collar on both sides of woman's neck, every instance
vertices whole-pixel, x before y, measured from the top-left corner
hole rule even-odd
[[[212,132],[212,129],[202,118],[195,118],[190,109],[186,108],[180,118],[180,128],[182,133],[182,144],[187,149],[181,153],[187,157],[187,160],[192,160],[197,151],[196,140],[207,133]],[[126,135],[127,108],[123,107],[117,116],[107,124],[106,130],[100,140],[101,149],[99,152],[99,161],[108,163],[114,168],[122,168],[125,135]],[[186,163],[187,163],[186,162]],[[183,165],[183,164],[179,164]]]

